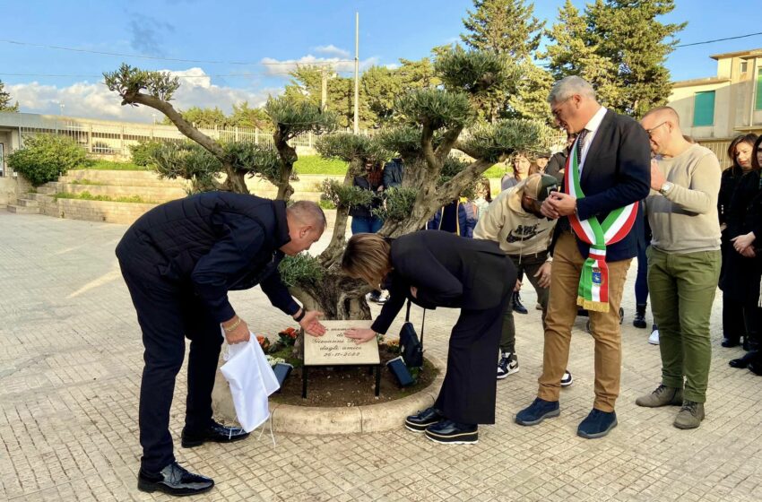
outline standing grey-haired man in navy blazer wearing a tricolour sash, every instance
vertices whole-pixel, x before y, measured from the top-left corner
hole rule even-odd
[[[567,367],[571,328],[579,307],[590,312],[595,340],[595,400],[579,424],[585,438],[606,436],[617,425],[621,333],[619,304],[630,261],[643,232],[639,201],[650,187],[648,135],[635,120],[602,107],[590,83],[567,77],[550,91],[557,123],[576,141],[567,158],[563,189],[542,203],[559,219],[553,243],[553,274],[546,316],[540,388],[516,414],[531,426],[560,413],[560,380]]]

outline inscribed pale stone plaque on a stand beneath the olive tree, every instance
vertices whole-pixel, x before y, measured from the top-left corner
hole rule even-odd
[[[304,337],[304,364],[306,366],[337,366],[380,364],[376,338],[365,343],[355,343],[344,337],[350,328],[369,328],[373,321],[321,321],[325,326],[323,336]]]

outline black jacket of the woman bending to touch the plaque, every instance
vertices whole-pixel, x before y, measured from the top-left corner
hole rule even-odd
[[[385,281],[389,300],[373,323],[377,333],[386,333],[406,299],[424,308],[485,309],[515,286],[515,267],[496,242],[423,230],[391,244],[394,270]],[[411,286],[418,289],[415,299]]]

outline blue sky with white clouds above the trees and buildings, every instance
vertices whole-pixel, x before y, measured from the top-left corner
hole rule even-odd
[[[577,7],[584,2],[575,1]],[[563,0],[535,2],[535,15],[555,21]],[[762,31],[762,9],[738,0],[678,0],[664,22],[688,21],[681,43]],[[176,106],[259,105],[288,82],[297,61],[333,60],[351,71],[354,13],[359,11],[361,67],[419,59],[463,31],[471,0],[0,0],[0,80],[22,111],[151,120],[151,111],[123,108],[100,74],[123,61],[182,75]],[[8,41],[203,62],[108,56]],[[692,48],[668,60],[674,80],[713,76],[709,56],[762,48],[762,35]],[[218,62],[218,63],[212,63]],[[244,63],[244,64],[233,64]],[[237,74],[237,75],[233,75]],[[240,76],[240,74],[246,74]],[[348,73],[349,74],[349,73]],[[66,75],[66,76],[57,76]]]

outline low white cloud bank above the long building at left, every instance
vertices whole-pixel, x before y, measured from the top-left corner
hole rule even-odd
[[[249,106],[258,107],[264,104],[270,94],[281,92],[281,89],[273,88],[249,91],[215,85],[212,77],[201,68],[170,73],[181,77],[180,88],[171,101],[172,106],[179,109],[218,107],[229,113],[233,104],[248,101]],[[63,103],[63,114],[69,117],[151,122],[152,114],[159,114],[156,110],[143,106],[121,106],[117,93],[108,91],[101,82],[75,82],[67,87],[29,82],[5,87],[13,100],[19,101],[22,112],[58,115],[62,111],[60,103]]]

